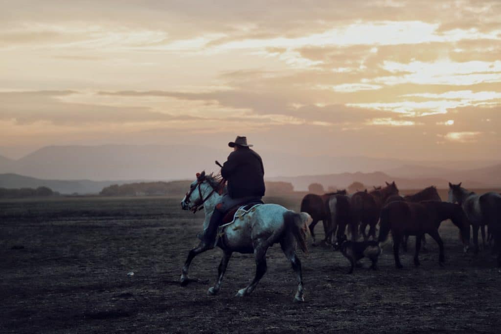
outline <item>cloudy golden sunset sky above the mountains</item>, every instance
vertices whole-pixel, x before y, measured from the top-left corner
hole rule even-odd
[[[499,1],[0,0],[0,154],[246,135],[501,159]]]

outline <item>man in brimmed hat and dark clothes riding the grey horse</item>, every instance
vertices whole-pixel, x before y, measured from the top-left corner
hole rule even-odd
[[[216,205],[201,237],[208,248],[214,247],[217,227],[221,225],[228,210],[237,205],[262,203],[261,199],[265,195],[263,160],[250,149],[253,145],[247,144],[246,137],[237,136],[228,146],[233,148],[233,152],[221,168],[221,176],[227,181],[228,192]]]

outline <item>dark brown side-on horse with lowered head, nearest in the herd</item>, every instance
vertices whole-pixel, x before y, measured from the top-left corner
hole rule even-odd
[[[438,234],[440,223],[446,219],[459,228],[463,239],[464,251],[469,244],[469,221],[466,218],[461,206],[457,204],[440,201],[423,201],[419,203],[392,202],[381,211],[381,222],[378,242],[384,242],[388,238],[391,230],[393,236],[393,254],[395,256],[395,266],[402,268],[398,250],[404,235],[416,236],[416,253],[414,254],[414,264],[419,265],[419,249],[421,248],[421,238],[427,233],[438,244],[439,264],[444,262],[443,241]]]

